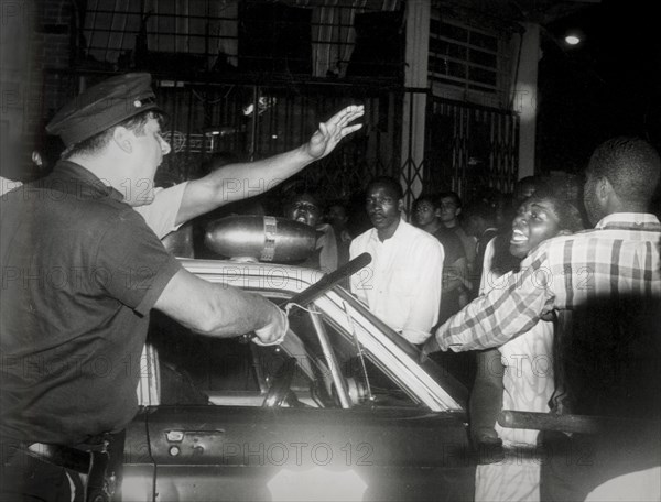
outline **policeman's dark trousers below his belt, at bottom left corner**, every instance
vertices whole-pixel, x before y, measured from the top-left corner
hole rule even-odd
[[[83,502],[84,488],[77,472],[39,460],[15,447],[2,446],[1,502]]]

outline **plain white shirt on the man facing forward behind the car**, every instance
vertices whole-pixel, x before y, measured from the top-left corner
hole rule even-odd
[[[351,293],[411,343],[422,343],[438,320],[444,251],[438,240],[401,220],[390,239],[370,229],[351,241],[351,259],[371,263],[351,276]]]

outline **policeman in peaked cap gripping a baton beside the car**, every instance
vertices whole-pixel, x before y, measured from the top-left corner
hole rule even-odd
[[[47,126],[66,145],[52,174],[0,201],[2,500],[108,491],[87,452],[106,454],[137,412],[152,308],[212,337],[286,332],[263,297],[185,271],[132,209],[170,152],[160,120],[149,74],[90,87]]]

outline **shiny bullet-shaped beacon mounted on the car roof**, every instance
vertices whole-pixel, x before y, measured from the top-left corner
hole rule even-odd
[[[206,227],[204,242],[223,257],[284,263],[305,260],[315,249],[316,231],[274,216],[227,216]]]

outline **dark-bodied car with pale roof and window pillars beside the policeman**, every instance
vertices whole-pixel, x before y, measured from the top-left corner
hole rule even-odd
[[[260,347],[156,316],[115,500],[473,500],[467,393],[451,374],[337,285],[299,303],[321,272],[182,263],[286,306],[290,331]]]

